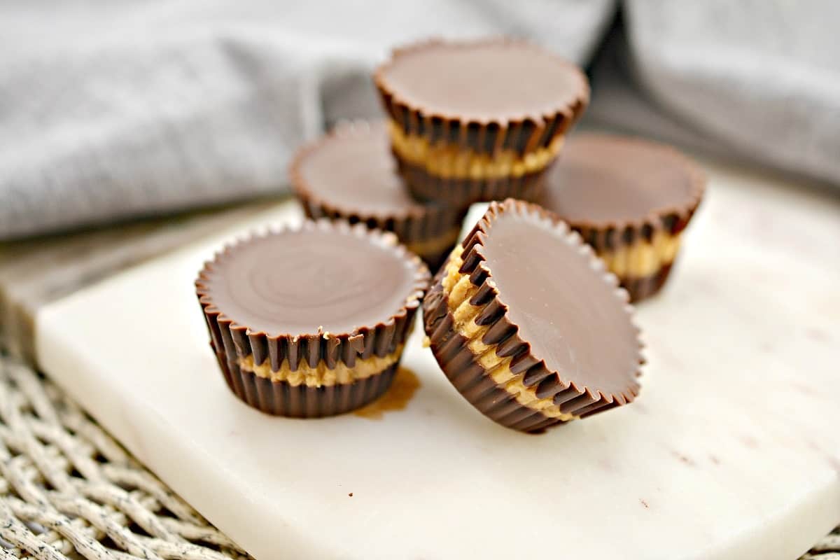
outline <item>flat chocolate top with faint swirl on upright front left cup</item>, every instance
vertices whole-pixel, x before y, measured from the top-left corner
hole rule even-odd
[[[202,276],[225,317],[270,336],[373,327],[428,282],[428,270],[392,234],[328,222],[238,243]]]

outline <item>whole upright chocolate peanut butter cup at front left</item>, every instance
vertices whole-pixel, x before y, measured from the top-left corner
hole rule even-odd
[[[317,417],[387,390],[428,280],[392,233],[307,220],[226,247],[196,291],[230,390],[268,414]]]

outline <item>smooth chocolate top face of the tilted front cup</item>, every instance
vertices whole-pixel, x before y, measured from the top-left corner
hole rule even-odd
[[[626,294],[579,236],[517,204],[505,203],[483,241],[507,321],[533,357],[565,383],[627,394],[637,386],[640,345]]]

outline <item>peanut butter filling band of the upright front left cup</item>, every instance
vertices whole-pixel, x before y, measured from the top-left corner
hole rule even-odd
[[[273,371],[268,359],[262,364],[254,364],[253,354],[239,358],[238,364],[239,369],[243,371],[249,371],[258,377],[272,381],[285,381],[292,387],[298,385],[330,387],[353,383],[359,379],[367,379],[375,374],[381,374],[399,361],[402,355],[402,347],[403,345],[400,344],[396,347],[396,350],[386,356],[370,356],[370,358],[357,359],[352,368],[344,362],[339,362],[333,369],[328,369],[327,364],[321,360],[315,368],[302,361],[298,364],[296,371],[291,371],[288,360],[284,360],[281,368]]]

